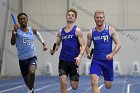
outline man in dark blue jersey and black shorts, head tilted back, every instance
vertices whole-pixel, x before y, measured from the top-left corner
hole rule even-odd
[[[67,25],[57,34],[56,48],[51,50],[54,53],[60,47],[62,48],[59,56],[59,76],[61,84],[61,93],[68,93],[67,78],[70,77],[70,84],[73,90],[78,88],[79,65],[85,51],[85,41],[82,31],[74,25],[77,18],[77,12],[74,9],[67,11]]]

